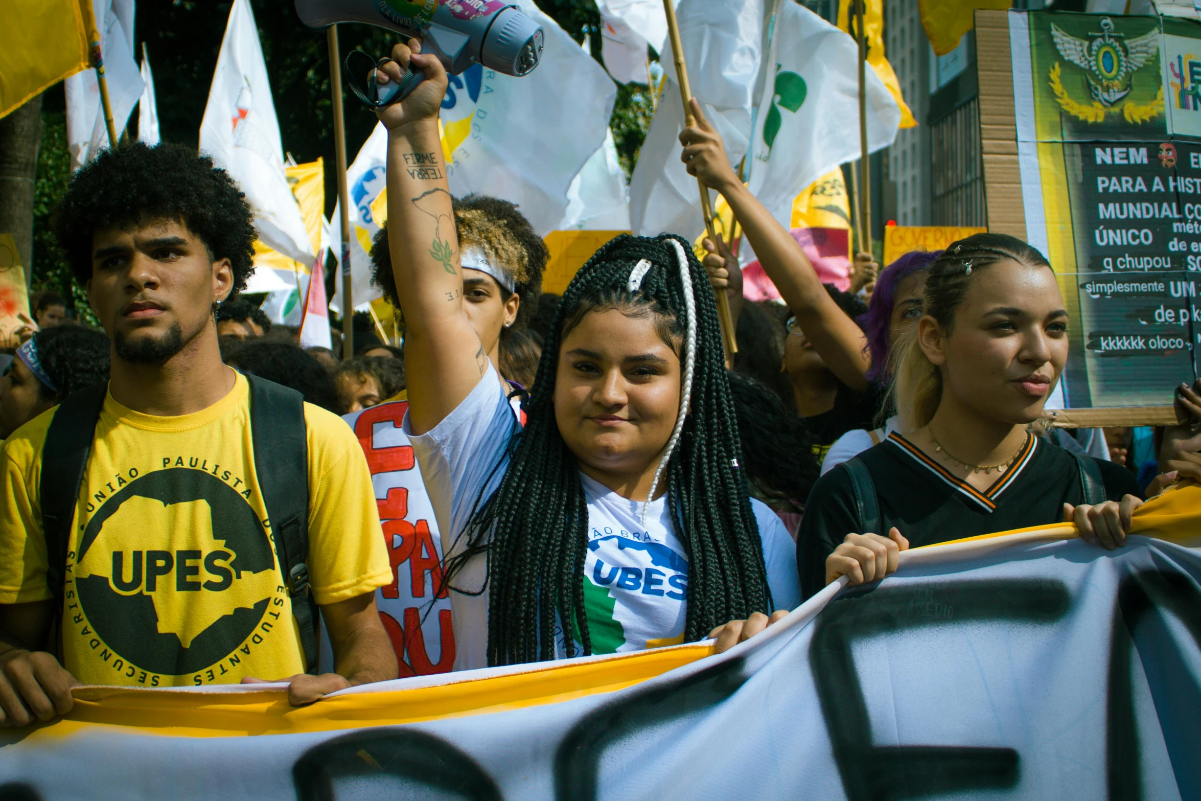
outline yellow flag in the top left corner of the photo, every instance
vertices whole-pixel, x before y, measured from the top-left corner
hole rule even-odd
[[[82,1],[91,8],[91,0]],[[0,1],[0,116],[88,68],[88,30],[79,2]]]

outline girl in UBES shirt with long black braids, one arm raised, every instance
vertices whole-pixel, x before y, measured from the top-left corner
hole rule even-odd
[[[410,64],[426,78],[380,119],[405,431],[442,531],[455,668],[706,635],[727,647],[783,616],[799,602],[795,546],[748,496],[716,305],[688,244],[619,237],[580,269],[521,430],[462,311],[446,72],[416,40],[393,58],[389,79]]]

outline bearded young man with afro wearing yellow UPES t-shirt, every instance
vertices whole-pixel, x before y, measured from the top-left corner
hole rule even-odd
[[[353,432],[304,404],[293,441],[306,455],[280,464],[287,437],[262,442],[265,425],[255,436],[273,411],[252,414],[252,399],[288,390],[247,381],[217,351],[214,311],[253,269],[251,222],[229,177],[179,145],[109,150],[72,180],[58,237],[112,340],[112,378],[95,393],[90,455],[62,504],[70,521],[52,508],[73,479],[58,479],[60,454],[43,444],[80,417],[78,402],[30,420],[0,452],[0,722],[65,713],[80,683],[287,681],[305,704],[396,677],[374,602],[390,570]],[[55,425],[56,412],[74,417]],[[273,507],[281,473],[301,489]],[[275,526],[269,507],[300,512]],[[62,532],[58,556],[47,530]],[[336,673],[304,673],[315,668],[311,602]]]

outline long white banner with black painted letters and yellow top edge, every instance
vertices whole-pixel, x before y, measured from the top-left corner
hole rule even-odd
[[[65,719],[0,734],[0,793],[1197,797],[1199,496],[1148,503],[1117,551],[1070,526],[909,551],[718,656],[490,668],[300,709],[261,686],[80,688]]]

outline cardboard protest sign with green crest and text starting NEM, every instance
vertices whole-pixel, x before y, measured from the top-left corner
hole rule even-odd
[[[976,37],[1000,56],[980,70],[988,225],[1059,276],[1063,405],[1101,425],[1171,419],[1201,355],[1201,24],[979,12]]]

